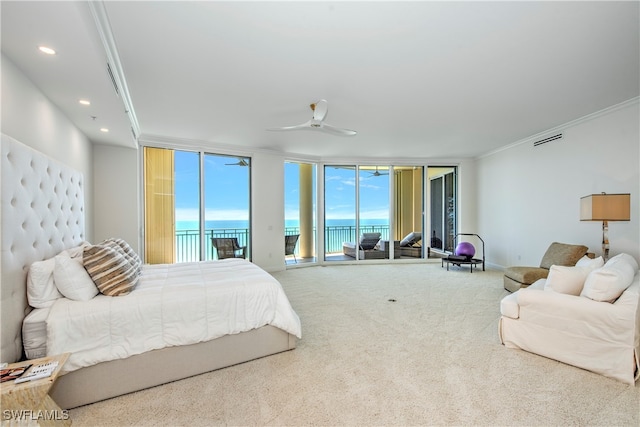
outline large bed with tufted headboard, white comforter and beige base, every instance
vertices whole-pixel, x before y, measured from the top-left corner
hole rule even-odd
[[[23,329],[30,357],[43,351],[57,354],[72,349],[65,374],[50,393],[62,408],[74,408],[295,348],[301,334],[300,324],[284,291],[272,276],[246,260],[142,266],[136,285],[126,294],[99,293],[86,302],[58,297],[46,307],[31,307],[33,295],[27,298],[31,266],[50,262],[78,248],[84,251],[86,245],[82,174],[3,134],[1,358],[3,362],[13,362],[27,356]],[[201,278],[213,280],[215,285]],[[257,295],[256,287],[263,287],[261,283],[266,283],[270,290],[266,295],[251,297]],[[237,288],[246,288],[248,292],[240,297],[234,290]],[[225,293],[232,302],[220,297]],[[189,295],[195,299],[186,299]],[[259,309],[264,312],[260,316],[246,315],[242,310],[253,305],[252,299],[268,300],[272,308]],[[172,303],[190,310],[169,311]],[[221,312],[226,314],[220,316]],[[83,317],[83,313],[95,323],[79,327],[72,321]],[[90,331],[104,325],[96,313],[106,313],[106,318],[115,319],[120,319],[123,313],[133,317],[119,322],[123,329],[107,334],[107,338],[96,333],[102,338],[94,342],[77,342],[73,333],[82,335],[81,331],[60,336],[64,329]],[[213,326],[215,313],[228,324],[226,331]],[[234,322],[228,321],[229,313],[236,315]],[[67,318],[60,314],[67,314]],[[165,316],[183,323],[164,331],[154,330],[151,325],[158,322],[150,319],[163,319],[164,323]],[[25,322],[25,318],[29,321]],[[194,326],[198,321],[201,324]],[[137,335],[140,333],[151,335]],[[87,335],[90,334],[85,331],[84,336]],[[96,344],[104,344],[105,340],[110,351],[96,354]],[[167,366],[171,369],[166,369]]]

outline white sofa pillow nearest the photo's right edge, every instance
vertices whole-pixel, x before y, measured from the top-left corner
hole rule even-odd
[[[635,275],[633,267],[626,262],[607,264],[589,273],[580,296],[614,302],[629,287]]]

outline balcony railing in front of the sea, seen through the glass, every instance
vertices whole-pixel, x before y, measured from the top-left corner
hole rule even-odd
[[[285,235],[300,234],[298,227],[286,227]],[[389,240],[388,225],[364,225],[360,226],[360,233],[380,233],[381,240]],[[315,235],[315,230],[314,230]],[[240,246],[248,246],[249,230],[246,228],[217,228],[208,229],[204,232],[205,237],[205,260],[217,259],[215,249],[211,244],[213,237],[236,237]],[[325,253],[342,252],[342,242],[356,242],[355,225],[328,226],[324,231]],[[284,239],[282,250],[284,252]],[[247,248],[248,252],[251,248]],[[198,230],[177,230],[176,231],[176,262],[199,261],[200,257],[200,233]],[[296,255],[298,247],[296,246]],[[248,255],[247,255],[248,256]]]

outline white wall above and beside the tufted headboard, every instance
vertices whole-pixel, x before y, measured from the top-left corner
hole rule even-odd
[[[93,240],[91,141],[2,55],[2,133],[73,167],[84,175],[85,238]]]

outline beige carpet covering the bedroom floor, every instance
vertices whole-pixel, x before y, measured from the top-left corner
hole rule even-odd
[[[500,344],[497,271],[275,276],[302,321],[295,350],[74,409],[73,425],[640,425],[640,385]]]

